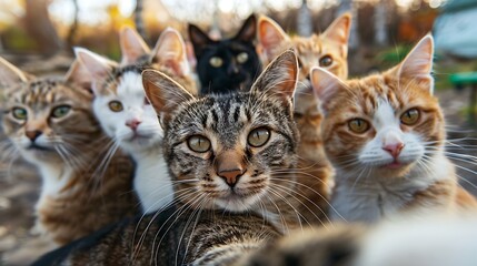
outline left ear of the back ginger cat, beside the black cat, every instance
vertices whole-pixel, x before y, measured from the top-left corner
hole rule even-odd
[[[268,60],[271,60],[285,42],[289,42],[287,33],[272,19],[260,16],[258,20],[258,42],[262,45]]]

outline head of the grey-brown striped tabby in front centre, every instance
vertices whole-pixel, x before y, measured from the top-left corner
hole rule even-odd
[[[201,99],[158,72],[142,74],[163,123],[165,156],[179,200],[240,212],[292,186],[287,170],[297,161],[291,114],[297,73],[289,51],[260,75],[251,92]]]

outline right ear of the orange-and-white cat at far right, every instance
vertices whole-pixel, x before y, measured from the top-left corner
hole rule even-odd
[[[398,65],[398,76],[423,84],[433,93],[434,40],[431,35],[424,37]]]

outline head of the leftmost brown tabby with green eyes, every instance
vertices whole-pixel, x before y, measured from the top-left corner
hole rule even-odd
[[[2,76],[14,76],[1,89],[2,127],[24,158],[68,163],[71,154],[100,135],[91,112],[92,94],[74,82],[77,62],[63,80],[27,79],[8,62],[0,64]]]

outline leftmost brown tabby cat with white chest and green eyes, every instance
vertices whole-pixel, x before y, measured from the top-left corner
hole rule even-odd
[[[2,127],[41,174],[36,227],[59,245],[135,214],[137,204],[129,158],[118,153],[103,165],[99,144],[108,139],[85,73],[73,62],[63,79],[40,79],[0,59]]]

